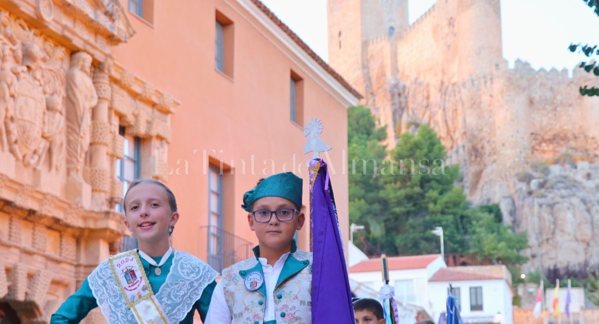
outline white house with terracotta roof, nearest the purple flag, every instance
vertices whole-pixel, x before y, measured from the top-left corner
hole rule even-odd
[[[389,285],[395,287],[395,299],[422,307],[431,314],[428,280],[446,264],[438,254],[392,256],[388,259]],[[368,259],[349,268],[349,278],[374,291],[383,286],[380,258]]]

